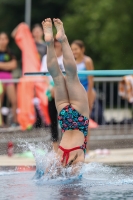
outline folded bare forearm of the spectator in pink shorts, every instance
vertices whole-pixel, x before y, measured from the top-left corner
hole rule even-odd
[[[17,67],[17,61],[12,59],[9,62],[0,62],[0,70],[10,71],[14,70]]]

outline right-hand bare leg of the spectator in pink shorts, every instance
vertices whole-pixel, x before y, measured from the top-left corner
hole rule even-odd
[[[17,123],[17,96],[16,96],[16,89],[14,84],[8,84],[6,87],[6,93],[9,101],[12,105],[12,112],[13,112],[13,122]]]

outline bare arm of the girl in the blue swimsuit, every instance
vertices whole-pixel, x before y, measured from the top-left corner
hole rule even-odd
[[[93,65],[93,61],[91,58],[86,57],[85,58],[85,63],[86,63],[86,69],[87,70],[94,70],[94,65]],[[89,82],[89,88],[88,88],[88,101],[89,101],[89,108],[90,108],[90,112],[92,110],[92,90],[93,90],[93,86],[94,86],[94,82],[93,82],[93,76],[88,76],[88,82]]]

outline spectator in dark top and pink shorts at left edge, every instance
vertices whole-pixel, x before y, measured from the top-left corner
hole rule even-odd
[[[17,67],[17,60],[15,55],[8,47],[9,38],[5,32],[0,33],[0,80],[12,79],[12,71]],[[3,93],[0,95],[0,101],[3,102],[4,94],[7,94],[7,97],[12,105],[13,112],[13,123],[11,126],[15,127],[17,123],[17,97],[16,89],[14,83],[3,83]]]

